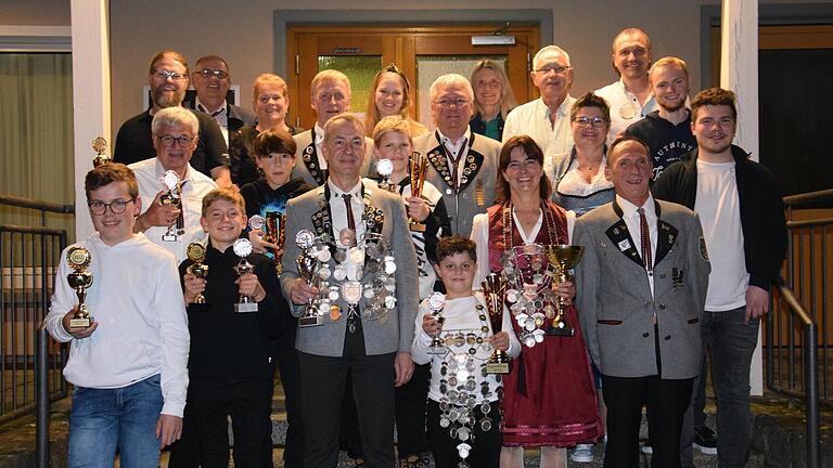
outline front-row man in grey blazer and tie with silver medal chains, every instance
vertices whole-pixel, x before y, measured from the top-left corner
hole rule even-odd
[[[408,381],[413,372],[416,255],[412,243],[401,242],[410,237],[401,198],[360,177],[366,158],[361,120],[342,114],[324,130],[329,179],[286,206],[287,233],[309,230],[334,239],[328,242],[332,255],[319,257],[332,272],[321,276],[329,277],[330,287],[322,286],[321,294],[329,295],[332,306],[321,325],[299,326],[296,340],[304,392],[304,466],[335,466],[342,398],[350,373],[366,466],[389,468],[395,461],[394,387]],[[380,244],[362,242],[376,235],[389,249],[382,269],[371,264],[380,256]],[[299,277],[298,253],[298,246],[287,242],[281,286],[299,316],[302,306],[320,296]],[[376,289],[380,275],[387,277]],[[380,299],[384,299],[381,307]]]

